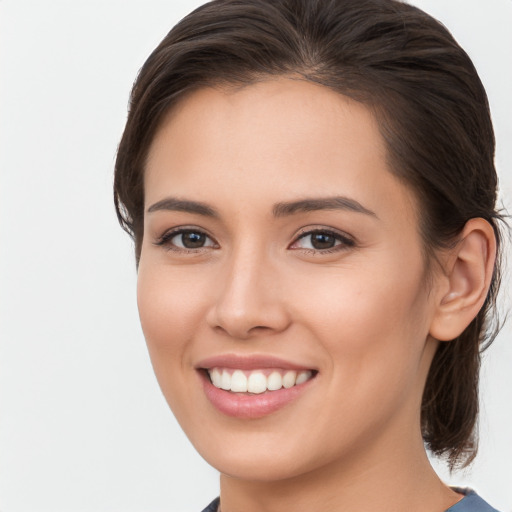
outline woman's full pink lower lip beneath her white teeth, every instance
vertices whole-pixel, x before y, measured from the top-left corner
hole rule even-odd
[[[204,392],[213,406],[226,416],[240,419],[262,418],[282,409],[304,393],[314,380],[314,378],[309,379],[288,389],[281,388],[277,391],[265,391],[265,393],[250,395],[216,388],[205,372],[201,371],[200,373]]]

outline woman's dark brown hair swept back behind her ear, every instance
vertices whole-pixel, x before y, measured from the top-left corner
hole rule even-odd
[[[487,96],[441,23],[397,0],[214,0],[168,33],[133,86],[114,200],[137,264],[144,167],[164,116],[198,88],[280,76],[324,85],[373,111],[391,172],[417,197],[427,261],[475,217],[492,225],[500,247]],[[480,355],[497,332],[499,270],[498,259],[481,311],[458,338],[440,343],[427,377],[423,439],[451,468],[476,455]]]

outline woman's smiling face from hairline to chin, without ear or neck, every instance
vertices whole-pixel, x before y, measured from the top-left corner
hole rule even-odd
[[[421,443],[435,294],[364,106],[290,78],[196,91],[153,141],[145,208],[142,327],[208,462],[278,480]]]

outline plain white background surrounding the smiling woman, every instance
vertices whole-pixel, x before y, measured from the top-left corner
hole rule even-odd
[[[153,377],[111,191],[137,70],[201,3],[0,0],[2,512],[193,512],[217,495],[216,472]],[[413,3],[452,30],[481,74],[510,209],[512,1]],[[509,323],[485,356],[476,462],[452,476],[439,466],[503,512],[512,511],[511,336]]]

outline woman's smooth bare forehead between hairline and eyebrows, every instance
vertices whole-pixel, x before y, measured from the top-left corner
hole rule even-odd
[[[153,140],[145,190],[146,205],[163,190],[203,201],[215,192],[224,204],[246,206],[254,196],[278,202],[343,194],[378,207],[386,193],[408,213],[414,204],[389,172],[371,111],[293,78],[208,87],[183,98]]]

